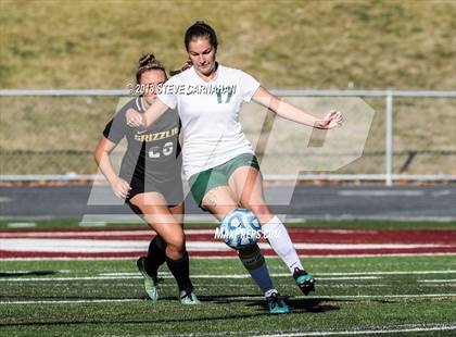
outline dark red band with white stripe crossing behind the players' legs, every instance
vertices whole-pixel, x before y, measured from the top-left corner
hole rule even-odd
[[[214,238],[214,228],[187,229],[191,257],[236,257]],[[456,253],[456,230],[451,229],[311,229],[289,228],[299,254],[376,255]],[[122,229],[2,230],[0,259],[17,258],[137,258],[147,251],[154,233],[144,227]],[[266,255],[276,255],[261,240]]]

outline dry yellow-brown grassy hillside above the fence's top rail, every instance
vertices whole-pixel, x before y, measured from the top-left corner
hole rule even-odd
[[[449,0],[0,3],[0,88],[125,88],[142,52],[180,66],[195,20],[269,88],[456,88]]]

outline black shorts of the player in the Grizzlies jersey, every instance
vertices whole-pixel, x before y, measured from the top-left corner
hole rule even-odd
[[[130,182],[130,191],[125,200],[130,207],[132,205],[130,199],[137,195],[147,192],[159,192],[163,195],[167,207],[175,207],[183,202],[182,179],[180,176],[175,176],[174,179],[166,182],[144,180],[134,176]],[[136,210],[134,210],[137,212]]]

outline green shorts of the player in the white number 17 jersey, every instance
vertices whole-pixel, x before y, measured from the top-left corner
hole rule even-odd
[[[201,207],[204,196],[211,189],[218,186],[228,186],[228,179],[231,174],[242,166],[251,166],[259,172],[259,164],[256,157],[251,153],[244,153],[235,157],[224,164],[193,174],[189,178],[189,185],[197,203]]]

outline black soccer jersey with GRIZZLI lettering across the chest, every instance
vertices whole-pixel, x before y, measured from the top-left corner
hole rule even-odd
[[[122,160],[119,176],[150,183],[180,182],[180,120],[177,111],[168,109],[147,128],[129,127],[126,123],[128,109],[144,112],[141,98],[126,103],[111,120],[103,132],[104,137],[118,143],[126,137],[128,146]]]

